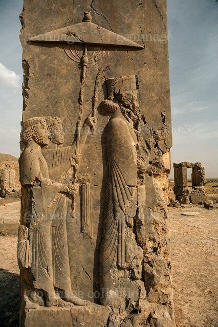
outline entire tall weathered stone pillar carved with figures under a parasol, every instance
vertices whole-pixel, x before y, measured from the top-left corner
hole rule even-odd
[[[20,326],[174,327],[166,1],[20,20]]]

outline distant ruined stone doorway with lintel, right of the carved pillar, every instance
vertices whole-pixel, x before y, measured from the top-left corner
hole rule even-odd
[[[173,191],[180,204],[202,204],[205,201],[205,169],[200,162],[173,163]],[[188,186],[187,168],[192,168],[191,186]]]

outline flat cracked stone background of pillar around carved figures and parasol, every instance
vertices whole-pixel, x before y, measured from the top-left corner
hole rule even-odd
[[[120,325],[129,326],[138,319],[135,323],[146,321],[148,325],[156,325],[158,321],[164,326],[173,326],[166,206],[169,148],[172,145],[166,1],[128,0],[124,4],[121,0],[24,0],[24,9],[20,15],[24,69],[23,121],[41,116],[60,117],[65,134],[63,146],[72,144],[79,116],[78,63],[71,61],[59,44],[34,44],[27,43],[27,40],[38,34],[80,23],[85,10],[91,11],[93,23],[144,47],[142,50],[108,49],[101,61],[89,64],[84,85],[82,123],[92,111],[94,83],[101,67],[111,68],[104,73],[106,79],[135,75],[138,91],[139,113],[133,125],[138,142],[137,185],[145,185],[145,203],[142,208],[139,208],[139,198],[135,203],[143,219],[139,222],[136,209],[133,224],[129,227],[129,237],[133,241],[129,242],[136,245],[136,252],[141,251],[142,258],[138,275],[129,273],[128,268],[129,275],[124,276],[124,283],[128,280],[133,285],[137,281],[142,295],[125,297],[124,307],[121,304],[115,306],[108,321],[114,325],[117,321]],[[107,96],[108,88],[102,79],[98,103]],[[73,215],[67,221],[67,233],[72,290],[80,298],[100,303],[99,252],[108,180],[105,126],[110,116],[103,115],[99,106],[97,118],[95,133],[88,136],[78,167],[79,191],[74,199]],[[83,181],[89,182],[92,194],[92,237],[84,237],[81,231],[82,197],[90,191],[82,186]]]

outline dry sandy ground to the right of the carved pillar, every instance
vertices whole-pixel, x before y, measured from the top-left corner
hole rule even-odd
[[[170,208],[173,297],[178,327],[218,326],[217,213],[199,205]],[[184,216],[182,211],[199,212]]]

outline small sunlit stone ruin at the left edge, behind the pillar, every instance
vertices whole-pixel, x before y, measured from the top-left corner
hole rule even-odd
[[[15,170],[5,164],[0,170],[0,197],[19,198],[20,195],[20,188],[15,185]]]

